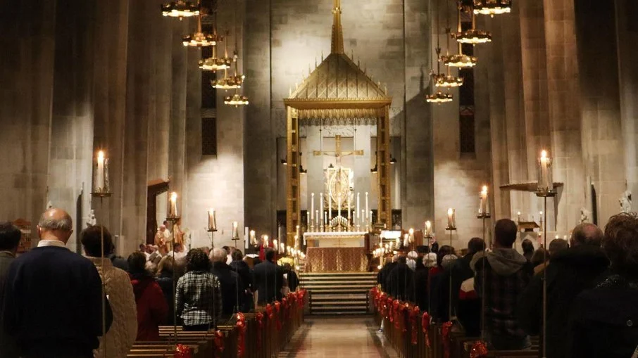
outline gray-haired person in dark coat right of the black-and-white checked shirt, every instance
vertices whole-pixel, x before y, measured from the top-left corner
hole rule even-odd
[[[244,304],[244,283],[237,272],[226,264],[226,250],[214,248],[211,252],[211,273],[219,279],[222,290],[222,319],[229,319]]]

